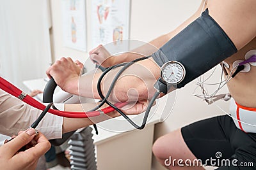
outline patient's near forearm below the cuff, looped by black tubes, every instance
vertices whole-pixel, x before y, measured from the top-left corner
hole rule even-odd
[[[109,87],[120,67],[109,71],[104,76],[100,87],[104,96],[106,96]],[[112,101],[138,101],[141,99],[150,99],[155,92],[154,83],[160,76],[160,69],[156,62],[150,59],[142,60],[125,69],[115,84],[113,93],[109,96]],[[97,91],[97,83],[101,73],[95,73],[94,76],[88,74],[79,77],[79,89],[77,93],[83,97],[101,99]]]

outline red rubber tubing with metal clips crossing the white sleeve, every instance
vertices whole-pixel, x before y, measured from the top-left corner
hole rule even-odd
[[[12,83],[4,80],[4,78],[0,77],[0,89],[4,90],[5,92],[8,92],[8,94],[11,94],[14,97],[19,98],[20,100],[24,101],[24,103],[29,104],[30,106],[33,106],[34,108],[37,108],[38,110],[44,110],[46,106],[34,99],[33,97],[25,94],[22,92],[22,90],[18,89],[13,85]],[[122,108],[127,103],[116,103],[115,106],[118,108]],[[48,112],[52,113],[54,115],[58,115],[60,117],[68,117],[68,118],[88,118],[88,117],[96,117],[99,115],[102,115],[103,113],[110,113],[111,111],[114,111],[115,109],[112,107],[107,107],[102,110],[97,111],[88,111],[88,112],[74,112],[74,111],[59,111],[59,110],[52,110],[49,109]]]

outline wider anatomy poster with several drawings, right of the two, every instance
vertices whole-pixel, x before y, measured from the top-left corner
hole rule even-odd
[[[130,0],[92,1],[92,45],[113,42],[122,44],[129,38]]]

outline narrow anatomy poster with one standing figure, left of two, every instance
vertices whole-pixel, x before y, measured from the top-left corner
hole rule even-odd
[[[62,29],[65,46],[86,51],[85,0],[62,0]]]

